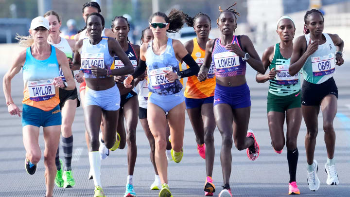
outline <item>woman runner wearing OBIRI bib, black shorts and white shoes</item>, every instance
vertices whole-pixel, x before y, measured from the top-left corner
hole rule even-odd
[[[327,149],[328,185],[339,184],[334,165],[335,132],[333,120],[337,111],[338,88],[333,79],[335,65],[344,63],[344,41],[336,34],[323,33],[324,18],[320,11],[312,9],[304,16],[304,36],[299,36],[293,46],[289,73],[301,72],[304,82],[301,88],[301,110],[306,124],[305,150],[307,158],[307,181],[311,191],[318,190],[318,164],[314,160],[317,117],[322,110],[324,141]]]

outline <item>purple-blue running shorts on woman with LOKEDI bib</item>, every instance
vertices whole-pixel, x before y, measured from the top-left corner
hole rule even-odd
[[[245,83],[240,86],[226,87],[216,84],[214,106],[218,104],[228,104],[232,109],[251,106],[248,85]]]

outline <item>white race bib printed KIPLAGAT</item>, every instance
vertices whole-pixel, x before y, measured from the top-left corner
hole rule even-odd
[[[96,54],[81,54],[80,57],[81,68],[84,73],[91,74],[91,67],[98,67],[101,69],[105,69],[105,58],[104,53],[96,53]]]

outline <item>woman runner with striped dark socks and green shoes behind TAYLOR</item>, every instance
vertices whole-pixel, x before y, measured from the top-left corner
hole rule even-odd
[[[75,50],[75,40],[66,39],[64,37],[59,36],[61,32],[61,19],[55,11],[51,10],[46,12],[44,14],[44,17],[49,21],[50,24],[50,35],[48,37],[48,43],[64,52],[67,55],[69,62],[71,63],[71,60],[73,59],[73,52]],[[60,77],[63,81],[66,81],[61,69]],[[80,101],[78,99],[78,91],[76,90],[76,88],[74,90],[65,90],[60,88],[59,98],[59,106],[62,113],[61,133],[65,167],[63,170],[63,161],[59,158],[58,146],[55,159],[57,168],[55,184],[58,187],[67,188],[75,186],[75,180],[73,178],[73,172],[71,171],[70,166],[73,153],[73,135],[71,126],[74,121],[76,108],[80,106]]]

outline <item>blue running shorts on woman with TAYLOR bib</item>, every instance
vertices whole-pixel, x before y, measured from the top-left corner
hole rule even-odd
[[[59,105],[50,111],[23,104],[22,126],[33,125],[46,127],[62,125],[61,109]]]

